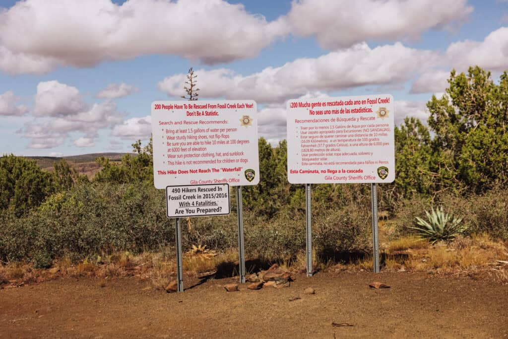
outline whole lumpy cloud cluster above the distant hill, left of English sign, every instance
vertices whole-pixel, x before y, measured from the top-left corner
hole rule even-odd
[[[20,131],[31,139],[29,148],[59,146],[72,132],[84,134],[75,140],[76,146],[91,147],[98,131],[119,124],[123,114],[112,101],[89,105],[76,87],[53,80],[38,84],[34,115],[36,119],[27,122]]]

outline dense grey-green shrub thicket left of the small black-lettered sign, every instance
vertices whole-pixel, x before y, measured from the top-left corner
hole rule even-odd
[[[2,214],[0,258],[42,264],[65,254],[84,258],[173,244],[174,228],[166,218],[164,199],[164,193],[149,184],[78,184],[21,218]]]

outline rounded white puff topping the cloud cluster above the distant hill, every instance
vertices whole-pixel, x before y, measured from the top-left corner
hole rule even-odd
[[[39,82],[35,96],[35,116],[67,116],[86,107],[76,87],[56,80]]]

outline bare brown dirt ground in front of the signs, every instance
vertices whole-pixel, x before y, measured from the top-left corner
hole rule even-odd
[[[371,289],[373,281],[391,288]],[[297,275],[288,288],[226,292],[231,282],[186,279],[185,292],[172,294],[136,278],[105,287],[67,278],[5,288],[0,338],[508,337],[508,285],[486,280],[320,272]],[[316,293],[304,294],[307,287]]]

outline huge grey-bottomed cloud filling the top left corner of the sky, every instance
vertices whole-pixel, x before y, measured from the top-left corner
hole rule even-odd
[[[149,54],[225,63],[256,56],[287,29],[224,0],[26,0],[0,11],[0,69],[44,73]]]

